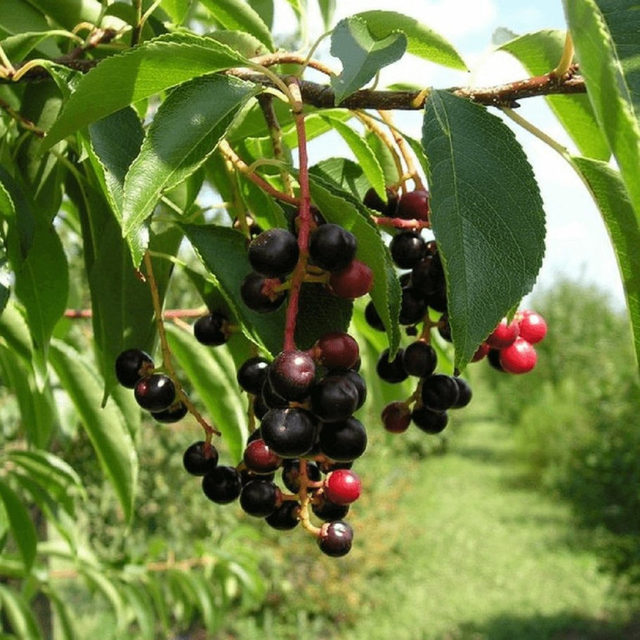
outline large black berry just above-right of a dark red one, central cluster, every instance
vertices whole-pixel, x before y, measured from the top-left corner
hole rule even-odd
[[[299,458],[314,446],[318,425],[305,409],[269,409],[262,418],[260,433],[272,452],[283,458]]]

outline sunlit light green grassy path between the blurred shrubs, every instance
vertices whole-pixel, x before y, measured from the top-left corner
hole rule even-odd
[[[622,605],[594,554],[577,541],[568,508],[520,481],[505,427],[466,423],[454,430],[446,455],[406,469],[378,480],[374,500],[397,488],[382,527],[355,519],[357,531],[364,527],[357,544],[364,537],[363,553],[378,553],[381,566],[369,569],[354,627],[333,637],[637,637],[618,629]]]

